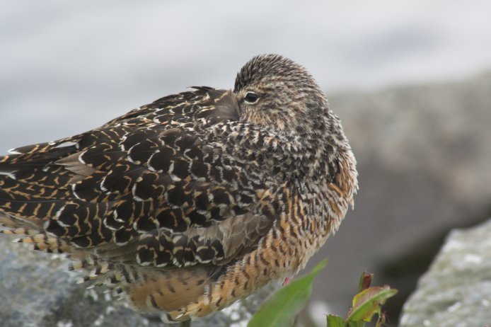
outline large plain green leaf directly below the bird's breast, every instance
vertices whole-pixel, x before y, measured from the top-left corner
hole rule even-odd
[[[312,282],[328,260],[322,260],[304,277],[294,280],[267,299],[248,323],[248,327],[292,326],[297,314],[304,309],[312,293]]]

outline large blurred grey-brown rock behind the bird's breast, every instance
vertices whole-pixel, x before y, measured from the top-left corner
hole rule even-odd
[[[367,270],[399,289],[386,304],[398,321],[444,236],[491,214],[491,74],[328,98],[358,161],[359,193],[306,268],[329,258],[313,297],[345,313]]]

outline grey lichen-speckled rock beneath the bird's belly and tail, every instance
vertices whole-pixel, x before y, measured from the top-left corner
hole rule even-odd
[[[146,317],[112,299],[103,289],[86,289],[80,275],[68,272],[68,260],[32,251],[0,237],[1,327],[163,327],[158,316]],[[204,319],[193,327],[245,326],[273,287]]]

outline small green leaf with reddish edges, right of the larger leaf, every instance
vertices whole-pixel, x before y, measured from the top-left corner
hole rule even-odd
[[[397,289],[391,287],[369,287],[356,294],[353,298],[353,307],[348,312],[346,319],[349,321],[371,321],[374,314],[379,314],[380,307],[389,297],[393,297]]]

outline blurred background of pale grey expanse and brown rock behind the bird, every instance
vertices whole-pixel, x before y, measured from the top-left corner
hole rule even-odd
[[[360,181],[311,260],[329,263],[304,323],[344,315],[363,270],[400,289],[395,323],[447,232],[491,216],[490,13],[487,0],[2,0],[0,153],[187,86],[232,88],[255,54],[290,57],[341,117]]]

